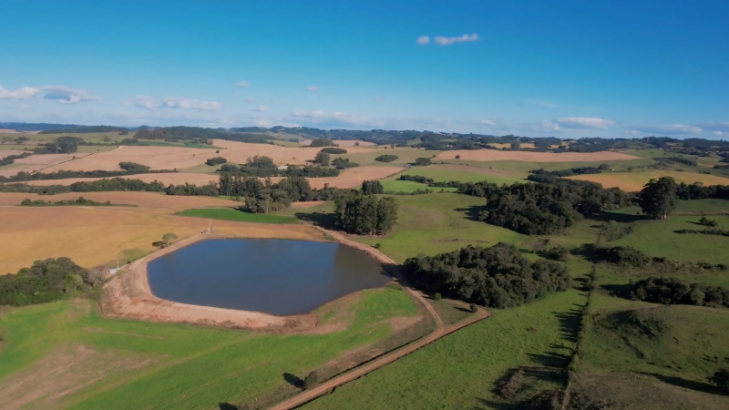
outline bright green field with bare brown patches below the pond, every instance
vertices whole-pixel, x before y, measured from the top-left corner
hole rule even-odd
[[[317,311],[345,330],[275,334],[100,317],[88,301],[0,313],[0,403],[7,408],[212,408],[294,392],[314,368],[393,334],[418,313],[381,288]],[[334,311],[333,311],[334,309]],[[32,323],[32,325],[31,325]],[[299,382],[296,382],[298,380]]]

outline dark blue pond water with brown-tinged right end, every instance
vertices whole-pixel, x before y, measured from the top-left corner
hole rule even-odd
[[[162,299],[277,315],[390,280],[374,258],[338,243],[253,239],[193,243],[150,261],[148,278]]]

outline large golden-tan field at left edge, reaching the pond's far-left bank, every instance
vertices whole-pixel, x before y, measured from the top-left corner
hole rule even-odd
[[[167,232],[180,238],[204,231],[210,220],[81,207],[0,208],[0,274],[33,261],[67,256],[85,268],[127,261],[125,251],[153,251]]]

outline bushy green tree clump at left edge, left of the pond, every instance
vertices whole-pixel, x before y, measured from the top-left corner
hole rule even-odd
[[[68,258],[35,261],[30,268],[0,275],[0,305],[53,302],[96,283],[93,274]]]

